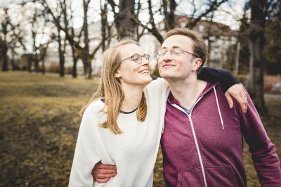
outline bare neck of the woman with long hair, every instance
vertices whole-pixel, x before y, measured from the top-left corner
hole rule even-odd
[[[122,84],[124,92],[124,101],[122,102],[120,110],[124,112],[131,112],[138,108],[141,103],[144,86],[136,86],[131,84]]]

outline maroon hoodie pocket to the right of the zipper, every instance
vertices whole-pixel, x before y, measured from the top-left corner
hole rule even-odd
[[[220,167],[206,167],[207,183],[209,187],[239,186],[230,165]]]

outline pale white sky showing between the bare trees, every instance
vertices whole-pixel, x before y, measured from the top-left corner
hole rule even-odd
[[[70,0],[66,0],[70,2]],[[161,0],[154,0],[152,1],[152,7],[154,8],[153,11],[157,11],[157,8],[159,7]],[[191,0],[178,0],[179,2],[178,7],[176,9],[176,13],[181,14],[181,15],[190,15],[192,13],[192,6],[190,6],[190,1]],[[214,15],[214,21],[216,22],[221,22],[223,24],[228,25],[231,29],[237,30],[239,29],[239,24],[240,22],[237,22],[235,19],[242,18],[242,13],[243,13],[243,6],[246,0],[229,0],[229,3],[223,4],[219,7],[219,11],[216,12]],[[13,12],[12,19],[15,22],[27,22],[27,24],[22,24],[26,27],[26,30],[31,30],[30,24],[28,24],[28,21],[24,20],[25,16],[20,15],[20,10],[17,9],[17,6],[15,4],[21,3],[22,0],[0,0],[0,7],[5,7],[5,8],[11,8],[11,12]],[[47,0],[49,6],[55,6],[56,0]],[[83,23],[83,1],[82,0],[72,0],[72,10],[74,11],[74,28],[81,27]],[[202,10],[204,8],[204,4],[201,3],[202,1],[195,1],[195,5],[198,9]],[[141,0],[141,3],[143,4],[143,10],[140,14],[140,20],[145,22],[148,22],[149,15],[148,15],[148,4],[147,0]],[[20,6],[18,6],[20,7]],[[32,16],[32,4],[30,4],[27,7],[27,12],[25,14],[30,14]],[[91,0],[91,4],[89,7],[89,23],[91,22],[98,22],[100,20],[100,0]],[[226,13],[228,12],[228,13]],[[1,12],[0,12],[1,16]],[[30,17],[31,17],[30,16]],[[27,16],[28,17],[28,16]],[[113,21],[113,15],[112,13],[108,15],[108,20]],[[155,22],[159,22],[163,19],[163,15],[159,15],[155,13],[154,15]],[[3,19],[3,18],[2,18]],[[0,18],[1,20],[1,18]],[[40,25],[38,25],[40,27]],[[46,29],[42,32],[48,33],[51,32],[50,30]],[[29,36],[31,37],[31,36]],[[46,34],[39,34],[39,39],[37,41],[39,43],[45,43],[48,40],[48,37],[46,37]],[[30,41],[32,41],[32,38],[30,38]],[[32,49],[30,48],[32,51]]]

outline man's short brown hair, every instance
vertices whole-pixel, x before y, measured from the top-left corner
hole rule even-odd
[[[164,39],[167,39],[174,35],[183,35],[185,37],[189,37],[190,39],[192,39],[193,53],[195,56],[201,58],[202,60],[202,65],[197,70],[197,73],[201,72],[208,53],[207,46],[204,43],[204,39],[200,36],[199,33],[193,30],[189,30],[187,28],[175,28],[174,30],[170,30],[169,32],[166,33]]]

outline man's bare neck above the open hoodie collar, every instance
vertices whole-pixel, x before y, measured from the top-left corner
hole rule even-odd
[[[187,79],[167,79],[169,89],[174,98],[185,108],[191,108],[204,90],[207,82],[190,76]]]

